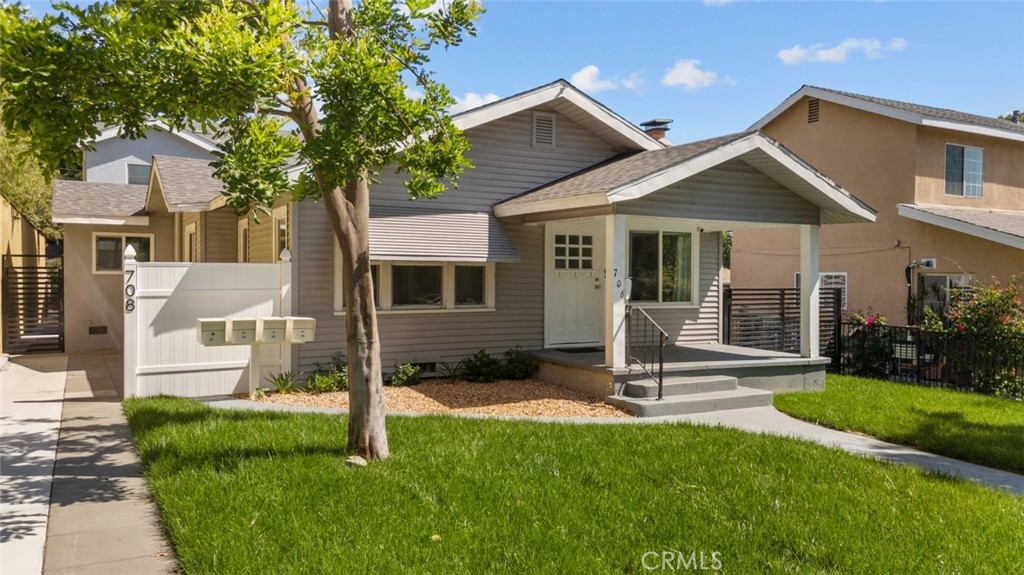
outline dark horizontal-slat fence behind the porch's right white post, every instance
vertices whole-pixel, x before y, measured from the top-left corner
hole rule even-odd
[[[843,291],[821,290],[818,301],[819,353],[834,357],[843,319]],[[726,345],[800,353],[800,290],[726,289],[722,309]]]

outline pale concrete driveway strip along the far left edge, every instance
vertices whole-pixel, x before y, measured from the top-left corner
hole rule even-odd
[[[5,574],[43,569],[67,365],[63,355],[36,355],[0,367],[0,572]]]

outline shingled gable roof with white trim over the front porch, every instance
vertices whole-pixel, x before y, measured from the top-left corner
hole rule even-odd
[[[623,154],[495,205],[499,217],[635,200],[742,158],[822,211],[822,223],[870,222],[874,211],[759,130]]]

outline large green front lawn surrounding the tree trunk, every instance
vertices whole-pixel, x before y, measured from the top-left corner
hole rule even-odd
[[[186,573],[1024,572],[1024,497],[795,440],[389,417],[360,469],[343,417],[124,405]]]

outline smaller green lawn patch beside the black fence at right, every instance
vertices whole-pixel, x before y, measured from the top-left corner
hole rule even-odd
[[[828,375],[822,393],[775,396],[795,417],[1015,473],[1024,473],[1024,402]]]

